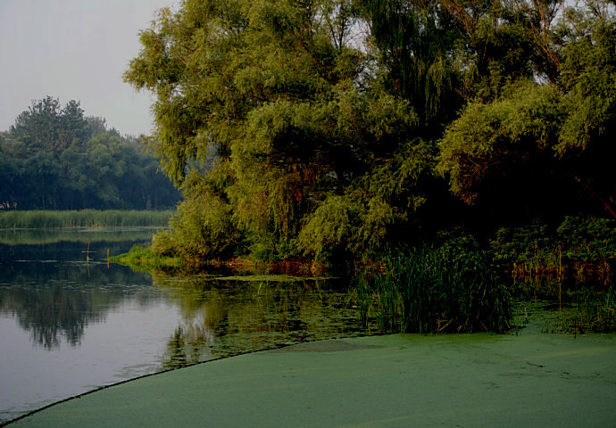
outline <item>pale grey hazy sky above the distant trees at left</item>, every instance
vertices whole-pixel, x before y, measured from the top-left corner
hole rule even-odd
[[[46,95],[121,134],[149,134],[150,95],[122,81],[137,33],[177,0],[0,0],[0,131]]]

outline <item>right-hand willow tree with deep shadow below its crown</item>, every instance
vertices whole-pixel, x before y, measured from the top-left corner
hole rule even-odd
[[[549,4],[518,10],[532,24]],[[454,193],[495,216],[616,217],[616,14],[593,1],[550,16],[529,24],[533,73],[464,108],[440,142],[439,169]]]

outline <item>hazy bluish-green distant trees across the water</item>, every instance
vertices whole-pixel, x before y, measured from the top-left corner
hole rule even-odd
[[[0,210],[170,208],[179,193],[136,137],[79,102],[33,102],[0,133]]]

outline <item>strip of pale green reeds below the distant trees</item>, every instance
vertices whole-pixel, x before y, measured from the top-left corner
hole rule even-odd
[[[0,228],[166,226],[173,210],[0,211]]]

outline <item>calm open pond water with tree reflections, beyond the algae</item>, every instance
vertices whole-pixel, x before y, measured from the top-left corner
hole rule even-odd
[[[152,232],[0,231],[0,423],[139,375],[357,333],[333,282],[173,277],[107,263],[108,250],[128,251]]]

